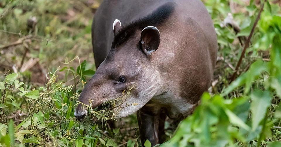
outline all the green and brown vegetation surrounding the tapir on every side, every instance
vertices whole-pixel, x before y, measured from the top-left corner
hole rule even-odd
[[[114,129],[73,115],[95,73],[91,23],[101,2],[0,1],[0,146],[141,146],[136,115],[117,120]],[[176,132],[167,119],[172,139],[163,146],[281,146],[281,1],[203,3],[218,37],[214,80]]]

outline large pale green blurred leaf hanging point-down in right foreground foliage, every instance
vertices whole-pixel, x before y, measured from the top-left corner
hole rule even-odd
[[[266,115],[271,97],[268,91],[255,91],[251,94],[252,130],[255,130]]]

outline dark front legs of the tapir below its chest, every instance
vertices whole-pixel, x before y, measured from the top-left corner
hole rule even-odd
[[[162,138],[161,135],[163,135],[164,132],[166,115],[163,116],[163,114],[161,115],[160,113],[159,115],[155,115],[143,109],[145,108],[141,108],[137,111],[138,127],[140,129],[140,140],[142,144],[144,145],[146,139],[150,141],[151,146],[162,143],[163,139],[160,139],[161,142],[159,142],[159,138]]]

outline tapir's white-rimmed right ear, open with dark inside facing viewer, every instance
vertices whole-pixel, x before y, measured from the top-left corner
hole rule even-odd
[[[145,27],[140,34],[140,47],[145,55],[151,55],[160,44],[160,32],[156,27]]]

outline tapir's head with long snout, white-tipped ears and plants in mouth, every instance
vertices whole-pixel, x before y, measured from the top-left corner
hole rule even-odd
[[[110,53],[82,90],[78,101],[92,108],[101,107],[131,89],[118,109],[113,109],[114,117],[121,118],[139,110],[159,91],[160,74],[152,52],[159,47],[160,33],[152,26],[122,28],[119,20],[114,21],[113,32]],[[76,118],[81,120],[86,114],[87,110],[79,104],[74,113]]]

